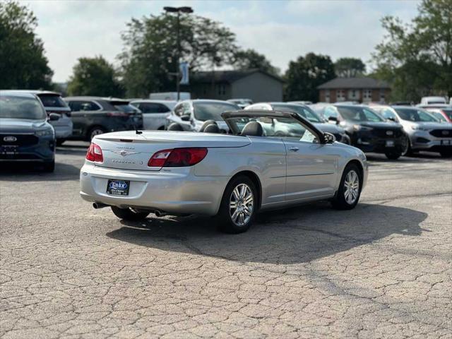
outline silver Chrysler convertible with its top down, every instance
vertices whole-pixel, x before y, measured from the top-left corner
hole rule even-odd
[[[367,180],[361,150],[335,142],[295,113],[237,111],[222,118],[229,134],[95,136],[81,169],[81,197],[124,220],[212,215],[229,233],[248,230],[259,210],[316,200],[339,209],[357,205]]]

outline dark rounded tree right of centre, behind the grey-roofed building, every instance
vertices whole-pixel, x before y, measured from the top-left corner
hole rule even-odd
[[[326,55],[308,53],[290,61],[285,73],[286,100],[319,100],[317,86],[335,78],[334,64]]]

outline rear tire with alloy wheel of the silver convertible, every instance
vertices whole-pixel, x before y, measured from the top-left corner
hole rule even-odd
[[[220,230],[231,234],[246,232],[257,209],[258,193],[254,182],[245,175],[234,177],[227,184],[218,210]]]

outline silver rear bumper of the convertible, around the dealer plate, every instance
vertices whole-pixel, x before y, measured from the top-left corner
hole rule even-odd
[[[80,195],[85,201],[120,208],[161,210],[169,214],[215,215],[227,177],[196,177],[193,167],[177,172],[110,169],[85,163],[80,173]],[[129,180],[129,196],[107,194],[108,179]]]

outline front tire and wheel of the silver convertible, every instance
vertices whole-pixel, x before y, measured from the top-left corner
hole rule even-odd
[[[362,172],[355,164],[345,167],[340,179],[339,189],[331,201],[333,208],[351,210],[357,206],[362,189]]]

